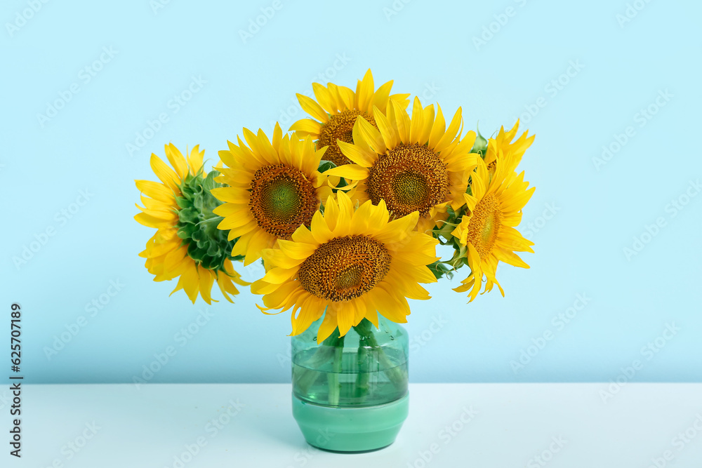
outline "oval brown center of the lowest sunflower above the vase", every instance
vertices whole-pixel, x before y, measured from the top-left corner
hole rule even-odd
[[[298,278],[307,293],[340,302],[373,289],[390,270],[383,243],[355,234],[331,239],[300,265]]]

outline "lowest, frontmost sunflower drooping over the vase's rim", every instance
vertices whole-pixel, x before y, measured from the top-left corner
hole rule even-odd
[[[378,313],[405,323],[407,298],[429,299],[418,283],[437,281],[425,266],[437,260],[437,241],[414,230],[418,216],[389,221],[383,201],[354,210],[338,192],[336,200],[327,200],[324,215],[314,214],[310,229],[301,226],[291,240],[265,250],[267,272],[251,291],[263,294],[263,312],[293,308],[291,335],[324,314],[317,342],[337,327],[345,335],[364,318],[377,327]]]

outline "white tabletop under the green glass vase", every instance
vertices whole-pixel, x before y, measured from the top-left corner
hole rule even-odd
[[[702,384],[630,383],[607,403],[601,390],[412,384],[397,441],[343,455],[305,443],[290,385],[26,385],[22,458],[8,455],[5,404],[0,466],[702,467]]]

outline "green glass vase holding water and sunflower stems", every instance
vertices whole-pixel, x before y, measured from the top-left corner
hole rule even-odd
[[[292,338],[293,416],[310,445],[324,450],[377,450],[395,441],[407,417],[409,340],[378,315],[317,343],[322,319]]]

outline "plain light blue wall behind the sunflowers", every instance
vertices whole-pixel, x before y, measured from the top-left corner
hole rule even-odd
[[[191,305],[152,281],[133,180],[154,179],[149,156],[166,142],[199,144],[215,163],[243,126],[301,118],[295,93],[312,81],[355,87],[369,67],[376,86],[394,79],[446,114],[462,106],[485,135],[518,116],[536,133],[522,161],[537,187],[520,227],[536,243],[531,269],[502,265],[506,297],[470,305],[451,291],[466,272],[431,285],[406,326],[411,380],[607,382],[637,360],[626,380],[702,381],[698,2],[639,0],[628,22],[625,1],[238,3],[3,2],[0,308],[22,305],[28,382],[288,381],[288,314],[264,316],[249,292]],[[206,83],[176,105],[193,77]],[[110,281],[124,285],[114,296]],[[211,316],[190,325],[201,311]]]

